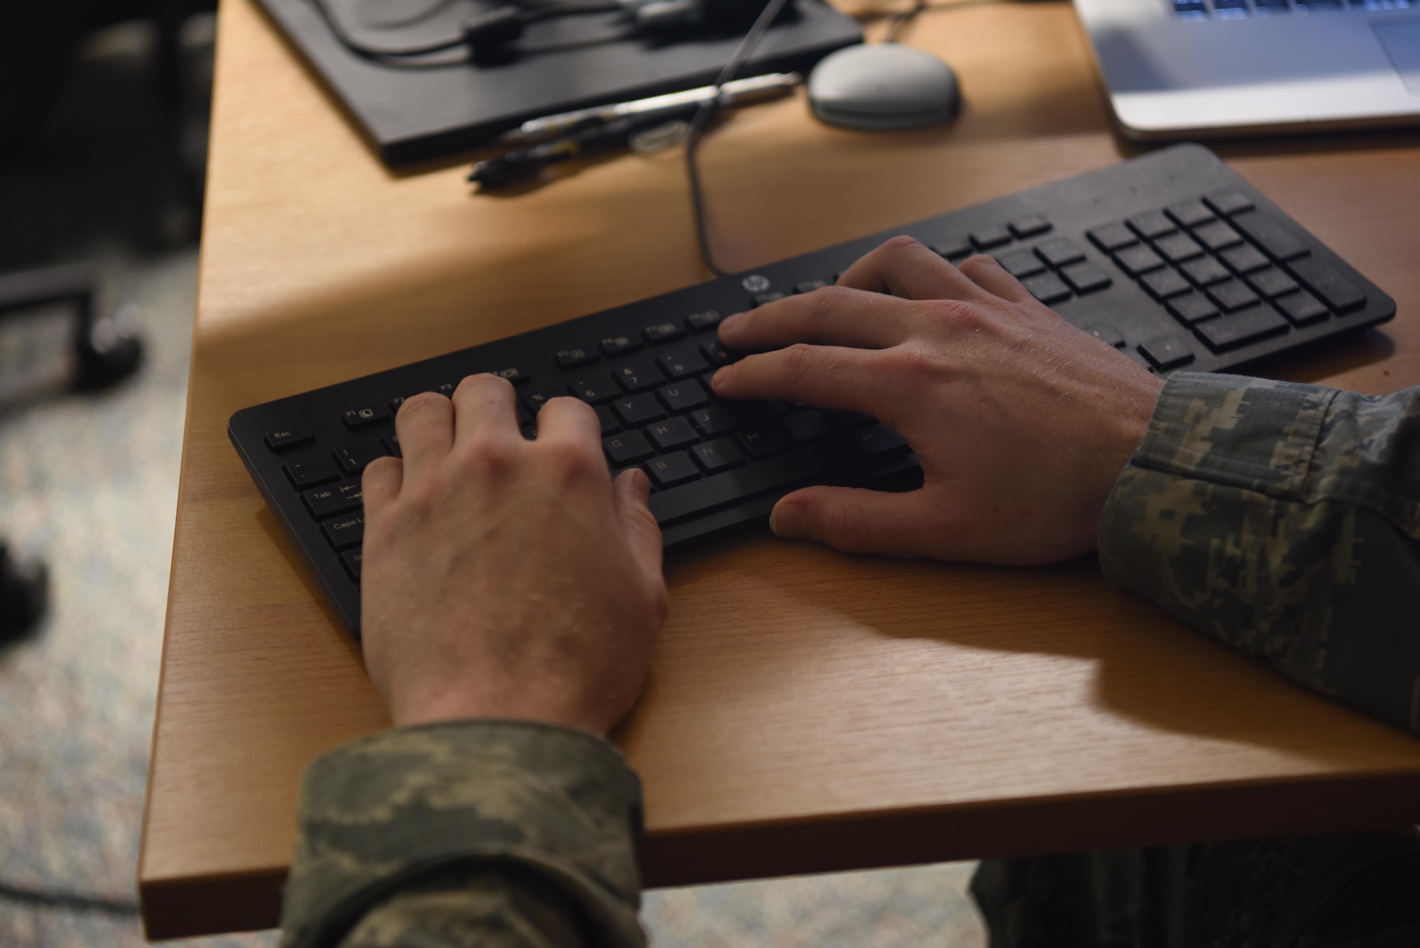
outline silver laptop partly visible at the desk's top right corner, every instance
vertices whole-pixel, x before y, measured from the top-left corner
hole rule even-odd
[[[1130,138],[1420,123],[1420,0],[1075,0]]]

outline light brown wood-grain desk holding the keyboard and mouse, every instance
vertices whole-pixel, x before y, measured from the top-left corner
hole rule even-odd
[[[704,278],[677,153],[470,196],[390,175],[251,0],[222,7],[168,639],[139,881],[152,937],[275,924],[297,778],[386,717],[227,444],[247,404]],[[802,99],[706,142],[723,261],[751,267],[1109,165],[1062,3],[930,13],[947,129],[862,135]],[[1420,136],[1221,149],[1400,304],[1264,366],[1420,382]],[[1420,820],[1420,742],[1288,684],[1092,562],[987,569],[744,536],[669,566],[621,734],[649,886]]]

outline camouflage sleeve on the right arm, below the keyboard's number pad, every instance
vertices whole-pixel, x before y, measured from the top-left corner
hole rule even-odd
[[[1099,555],[1119,586],[1420,734],[1420,387],[1170,377]]]

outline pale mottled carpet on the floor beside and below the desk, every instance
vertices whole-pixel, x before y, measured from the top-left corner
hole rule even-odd
[[[101,309],[133,304],[148,346],[136,377],[70,395],[67,315],[0,321],[0,538],[50,565],[54,593],[38,633],[0,649],[6,948],[145,944],[133,914],[6,895],[133,901],[197,253],[180,246],[193,213],[173,163],[155,158],[160,135],[122,98],[142,87],[141,37],[108,40],[91,51],[33,160],[0,169],[0,270],[98,260]],[[985,938],[966,895],[970,871],[949,864],[650,893],[645,921],[657,948],[976,948]],[[275,935],[180,944],[270,948]]]

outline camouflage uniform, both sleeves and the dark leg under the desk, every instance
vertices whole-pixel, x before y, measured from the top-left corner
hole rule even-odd
[[[1420,389],[1177,375],[1105,509],[1109,579],[1420,732]],[[469,721],[317,759],[284,947],[643,945],[640,786],[588,735]],[[981,864],[995,948],[1420,944],[1413,829]]]

